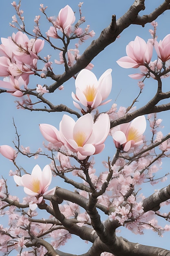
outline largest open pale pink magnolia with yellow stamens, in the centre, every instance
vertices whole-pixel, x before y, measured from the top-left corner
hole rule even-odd
[[[79,160],[102,152],[109,130],[108,114],[100,115],[95,124],[89,113],[80,117],[77,122],[64,115],[60,122],[60,131],[66,140],[66,146],[77,153]]]

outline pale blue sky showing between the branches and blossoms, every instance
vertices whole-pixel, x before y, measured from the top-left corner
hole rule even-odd
[[[6,0],[1,3],[1,9],[0,9],[0,21],[1,21],[1,27],[0,27],[0,37],[8,37],[11,36],[11,34],[17,31],[9,26],[9,22],[12,20],[12,16],[15,14],[15,9],[11,5],[11,0]],[[158,4],[161,4],[163,0],[146,0],[146,9],[141,12],[141,15],[148,14],[151,11],[153,11]],[[48,16],[57,16],[58,12],[61,8],[63,8],[66,4],[69,4],[73,11],[75,11],[76,20],[79,19],[79,9],[78,4],[79,1],[75,0],[62,0],[62,1],[55,1],[55,0],[44,0],[44,2],[40,0],[22,0],[22,9],[24,10],[24,17],[25,17],[25,25],[26,29],[28,31],[32,31],[33,25],[34,25],[34,17],[35,15],[41,15],[42,19],[40,21],[41,29],[45,32],[49,29],[50,24],[45,19],[45,17],[40,12],[40,4],[43,3],[44,6],[48,6],[48,9],[46,10],[46,13]],[[111,16],[113,14],[116,15],[117,19],[122,16],[130,7],[130,5],[133,3],[132,0],[122,0],[122,1],[113,1],[113,0],[84,0],[84,4],[82,5],[82,16],[85,16],[86,22],[82,25],[82,27],[86,27],[86,25],[91,26],[91,30],[93,29],[96,33],[95,37],[93,39],[96,39],[99,34],[101,33],[102,29],[107,27],[110,24]],[[170,33],[170,13],[169,11],[166,11],[164,14],[162,14],[158,19],[158,27],[157,27],[157,35],[158,40],[161,40]],[[137,96],[139,93],[139,88],[137,86],[137,80],[130,79],[128,77],[128,74],[136,73],[137,70],[134,69],[123,69],[117,65],[116,61],[117,59],[121,58],[122,56],[126,55],[126,45],[131,41],[134,40],[136,36],[140,36],[144,38],[144,40],[148,40],[150,38],[150,33],[148,32],[149,29],[152,29],[152,26],[150,24],[147,24],[144,28],[137,26],[137,25],[131,25],[129,28],[127,28],[125,31],[123,31],[120,35],[120,38],[118,38],[115,43],[109,45],[104,49],[103,52],[101,52],[98,56],[95,57],[95,59],[92,61],[94,64],[93,72],[99,79],[99,77],[102,75],[102,73],[107,70],[108,68],[112,68],[112,77],[113,77],[113,89],[110,94],[109,99],[113,99],[111,103],[108,103],[103,108],[100,107],[99,111],[106,111],[108,110],[112,104],[115,102],[118,105],[118,108],[120,106],[128,107],[131,105],[133,99]],[[80,54],[83,53],[84,49],[88,47],[88,45],[91,43],[93,39],[86,40],[85,43],[83,43],[79,47]],[[70,48],[74,47],[74,43],[77,43],[77,41],[73,42],[71,44]],[[57,43],[55,43],[57,45]],[[45,45],[43,51],[40,53],[42,57],[46,56],[47,54],[52,54],[51,60],[54,61],[54,59],[59,60],[59,52],[53,51],[49,45]],[[155,54],[156,58],[156,54]],[[155,60],[154,57],[152,60]],[[55,65],[54,64],[54,70],[56,74],[62,74],[64,72],[64,67],[61,65]],[[1,78],[2,79],[2,78]],[[39,78],[32,76],[30,78],[29,86],[30,88],[35,88],[36,84],[44,84],[50,85],[52,83],[51,79],[40,80]],[[154,95],[154,92],[157,88],[156,81],[153,79],[148,79],[146,82],[146,86],[144,88],[144,91],[139,98],[139,102],[135,104],[137,108],[141,107],[144,103],[146,103],[149,99],[152,98]],[[168,90],[169,85],[169,79],[164,79],[163,81],[163,88],[164,90]],[[71,98],[71,92],[75,92],[75,81],[74,79],[70,79],[64,84],[64,90],[59,91],[57,90],[52,95],[47,95],[48,99],[52,101],[54,105],[58,105],[60,103],[67,104],[68,107],[74,108],[73,106],[73,100]],[[20,143],[23,146],[30,146],[31,151],[34,152],[39,147],[42,148],[42,141],[44,141],[42,135],[40,134],[38,125],[41,123],[47,123],[52,124],[59,128],[60,120],[62,119],[63,113],[46,113],[46,112],[29,112],[27,110],[17,110],[15,107],[14,101],[16,100],[15,97],[12,97],[9,94],[0,94],[0,145],[7,144],[10,146],[13,146],[12,141],[15,139],[15,129],[13,127],[13,120],[15,120],[15,124],[18,128],[18,132],[21,135],[20,136]],[[158,117],[163,119],[163,126],[165,128],[163,129],[163,134],[166,135],[169,130],[169,112],[159,114]],[[168,117],[168,118],[167,118]],[[149,138],[149,127],[147,128],[147,136]],[[107,140],[107,145],[103,153],[103,158],[107,159],[107,156],[110,155],[111,157],[115,153],[115,147],[113,145],[112,139],[109,137]],[[111,153],[110,153],[110,147],[111,147]],[[100,161],[102,157],[102,154],[97,157],[98,161]],[[41,168],[43,168],[46,164],[49,164],[47,159],[39,158],[37,160],[34,159],[28,159],[23,157],[18,157],[20,161],[18,160],[18,164],[26,168],[26,171],[31,172],[33,166],[35,164],[39,164]],[[3,175],[4,178],[8,179],[9,182],[9,191],[12,194],[18,193],[18,188],[15,187],[15,184],[13,182],[13,177],[9,177],[8,173],[9,170],[12,169],[13,171],[15,168],[13,167],[12,163],[5,159],[0,155],[0,175]],[[101,164],[99,162],[97,166],[97,170],[101,170]],[[165,160],[165,163],[163,164],[162,173],[167,173],[168,170],[168,161]],[[161,176],[162,174],[160,174]],[[57,182],[60,182],[57,183]],[[56,184],[57,183],[57,184]],[[151,186],[144,186],[146,188],[143,193],[148,196],[151,193],[154,192],[154,189],[160,189],[163,186],[166,186],[170,183],[170,177],[168,177],[167,182],[164,184],[158,184],[155,187]],[[55,179],[55,185],[62,186],[61,181],[58,179]],[[64,185],[65,186],[65,185]],[[18,190],[18,191],[17,191]],[[24,197],[24,192],[23,192]],[[168,211],[168,210],[167,210]],[[102,217],[103,218],[103,217]],[[4,223],[5,220],[3,217],[1,217],[1,222]],[[162,225],[166,225],[166,222],[162,222]],[[168,224],[168,223],[167,223]],[[163,235],[163,238],[160,238],[157,234],[153,233],[152,231],[146,231],[146,235],[144,236],[137,236],[129,231],[126,231],[122,229],[121,236],[129,239],[132,242],[138,242],[145,245],[152,245],[152,246],[158,246],[158,247],[164,247],[166,249],[170,249],[170,245],[168,243],[169,241],[169,234],[166,233]],[[150,241],[150,237],[152,236],[152,241]],[[87,251],[87,248],[90,246],[90,243],[87,245],[84,243],[84,241],[81,241],[79,239],[79,243],[76,243],[76,251],[75,251],[75,245],[73,245],[72,241],[70,240],[66,247],[63,249],[65,252],[75,253],[75,254],[82,254]],[[62,249],[62,248],[61,248]],[[12,254],[11,254],[12,255]],[[13,254],[16,255],[16,254]]]

